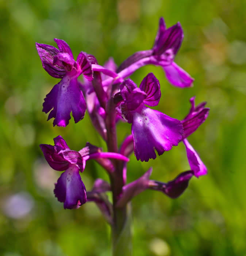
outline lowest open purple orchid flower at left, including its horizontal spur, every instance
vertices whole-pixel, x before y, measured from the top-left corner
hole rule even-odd
[[[39,145],[50,167],[57,171],[65,171],[55,184],[54,194],[59,202],[64,203],[65,209],[72,209],[87,202],[85,185],[80,172],[85,169],[85,162],[96,158],[115,158],[128,161],[127,157],[117,153],[103,153],[101,150],[87,143],[79,152],[70,150],[62,136],[54,138],[54,146]]]

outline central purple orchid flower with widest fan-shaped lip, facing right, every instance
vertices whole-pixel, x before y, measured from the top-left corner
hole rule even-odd
[[[181,121],[145,106],[157,106],[161,97],[159,81],[152,73],[143,79],[139,88],[131,79],[125,80],[115,97],[119,95],[122,102],[117,110],[128,123],[132,123],[137,160],[155,159],[155,150],[161,155],[178,145],[183,133]]]

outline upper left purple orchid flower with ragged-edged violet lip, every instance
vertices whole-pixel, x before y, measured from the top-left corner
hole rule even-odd
[[[51,110],[47,120],[55,118],[54,126],[65,127],[69,123],[71,112],[75,123],[84,118],[86,103],[77,78],[83,74],[86,79],[92,81],[93,71],[86,53],[80,52],[75,61],[65,41],[56,38],[54,41],[58,49],[51,45],[36,43],[43,68],[54,78],[62,79],[46,95],[43,112],[48,113]]]

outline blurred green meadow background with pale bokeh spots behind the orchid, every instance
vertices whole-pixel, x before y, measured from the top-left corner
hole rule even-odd
[[[59,173],[44,160],[40,143],[62,135],[70,148],[89,141],[105,143],[88,115],[78,124],[54,127],[42,112],[45,95],[58,79],[42,68],[35,42],[56,46],[64,39],[74,56],[82,50],[103,64],[120,64],[138,50],[150,49],[160,16],[167,26],[180,21],[184,41],[176,63],[195,78],[194,87],[171,86],[160,67],[139,69],[161,83],[158,110],[182,119],[207,101],[207,121],[189,141],[208,167],[192,178],[176,200],[145,191],[132,202],[134,255],[246,255],[246,1],[161,0],[0,0],[0,255],[107,256],[110,228],[93,203],[64,210],[54,195]],[[130,125],[119,124],[119,143]],[[168,181],[188,170],[184,145],[157,157],[128,163],[128,182],[153,166],[151,178]],[[87,189],[96,177],[108,180],[89,161],[82,174]]]

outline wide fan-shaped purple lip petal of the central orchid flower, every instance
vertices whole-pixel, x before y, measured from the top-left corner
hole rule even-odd
[[[183,127],[181,121],[143,106],[133,114],[131,132],[137,160],[149,161],[156,158],[154,149],[161,155],[177,146]]]

